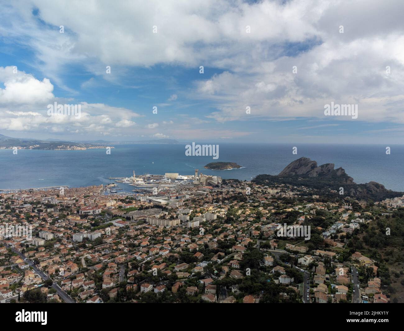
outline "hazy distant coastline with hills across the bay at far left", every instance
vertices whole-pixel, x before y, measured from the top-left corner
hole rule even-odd
[[[0,134],[0,148],[4,149],[14,147],[31,150],[86,150],[87,148],[104,148],[109,146],[74,143],[72,141],[63,141],[59,139],[40,140],[32,138],[12,138]]]

